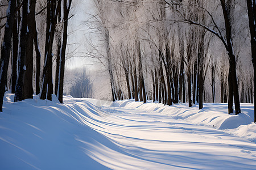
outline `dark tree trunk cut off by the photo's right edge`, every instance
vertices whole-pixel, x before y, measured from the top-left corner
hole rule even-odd
[[[254,70],[254,123],[256,122],[256,111],[255,111],[255,79],[256,79],[256,1],[255,0],[246,0],[247,8],[248,8],[248,16],[249,16],[249,27],[250,27],[250,35],[251,35],[251,60],[253,62],[253,70]],[[252,99],[251,99],[252,100]]]

